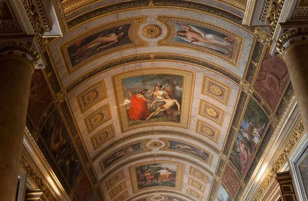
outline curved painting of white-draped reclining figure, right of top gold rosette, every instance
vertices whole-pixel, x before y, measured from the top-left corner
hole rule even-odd
[[[175,26],[176,34],[171,41],[199,45],[232,57],[233,39],[229,36],[196,25],[178,22],[172,24]]]

